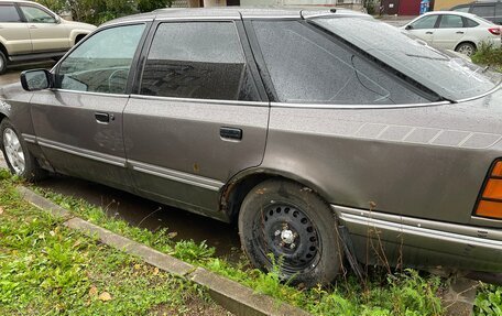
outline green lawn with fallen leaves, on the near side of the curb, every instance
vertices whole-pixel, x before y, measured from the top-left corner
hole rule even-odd
[[[200,286],[68,230],[14,184],[0,170],[0,315],[225,313]]]

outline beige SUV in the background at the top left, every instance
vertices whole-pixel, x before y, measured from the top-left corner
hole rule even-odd
[[[0,0],[0,74],[11,62],[61,57],[95,29],[32,1]]]

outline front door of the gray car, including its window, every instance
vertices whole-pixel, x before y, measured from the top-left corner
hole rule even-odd
[[[56,69],[55,89],[35,92],[36,141],[61,173],[129,187],[122,138],[127,84],[145,24],[105,29]]]

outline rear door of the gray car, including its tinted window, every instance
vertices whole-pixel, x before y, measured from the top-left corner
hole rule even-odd
[[[219,217],[223,184],[261,164],[269,103],[240,23],[171,20],[154,28],[139,94],[123,118],[128,163],[143,195]]]

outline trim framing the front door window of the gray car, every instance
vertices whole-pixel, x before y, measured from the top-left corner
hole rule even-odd
[[[73,46],[58,62],[57,64],[51,69],[51,73],[54,74],[55,77],[58,76],[59,73],[59,67],[61,64],[75,51],[77,50],[83,43],[95,36],[96,34],[113,29],[113,28],[120,28],[120,26],[131,26],[131,25],[140,25],[144,24],[145,28],[143,30],[143,34],[140,37],[140,42],[138,43],[137,51],[134,52],[134,56],[132,57],[131,62],[131,68],[129,69],[129,77],[128,77],[128,83],[126,85],[126,91],[123,95],[118,95],[118,94],[106,94],[106,92],[94,92],[94,91],[79,91],[79,90],[69,90],[69,89],[61,89],[61,88],[51,88],[53,91],[73,91],[73,92],[79,92],[79,94],[92,94],[92,95],[101,95],[101,96],[126,96],[129,97],[133,91],[132,91],[132,86],[134,83],[134,77],[138,72],[138,63],[141,57],[141,51],[143,48],[143,45],[145,43],[145,40],[148,37],[148,34],[150,32],[150,29],[152,28],[152,20],[141,20],[141,21],[128,21],[128,22],[121,22],[121,23],[112,23],[112,24],[107,24],[106,26],[99,28],[96,31],[91,32],[89,35],[87,35],[83,41],[79,41],[75,46]],[[141,48],[140,48],[141,47]],[[57,79],[55,80],[57,83]]]

